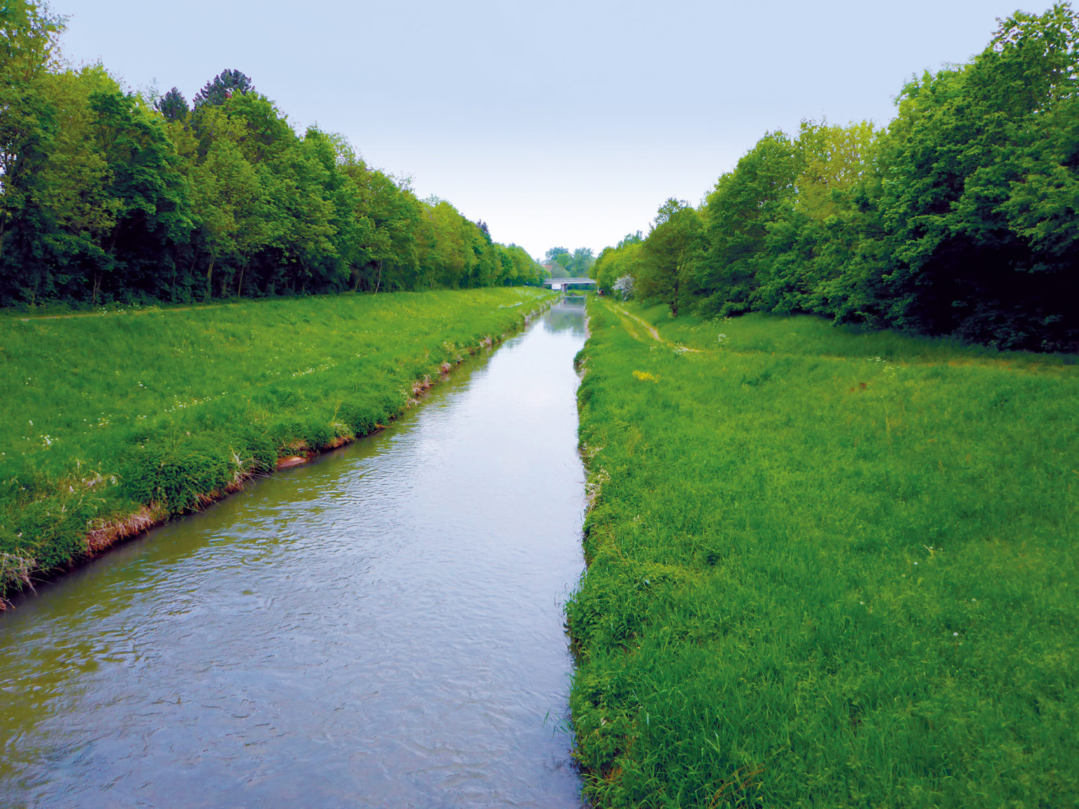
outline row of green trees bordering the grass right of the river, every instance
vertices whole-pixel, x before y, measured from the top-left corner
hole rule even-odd
[[[1016,12],[897,106],[887,127],[767,133],[699,206],[668,200],[647,236],[603,250],[593,277],[674,315],[1079,351],[1079,15]]]

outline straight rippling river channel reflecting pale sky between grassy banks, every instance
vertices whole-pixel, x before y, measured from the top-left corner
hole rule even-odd
[[[0,805],[579,807],[563,302],[378,436],[0,614]]]

